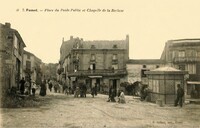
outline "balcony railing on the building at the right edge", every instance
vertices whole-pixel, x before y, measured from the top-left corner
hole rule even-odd
[[[180,63],[180,62],[200,62],[199,57],[175,57],[174,58],[175,63]]]

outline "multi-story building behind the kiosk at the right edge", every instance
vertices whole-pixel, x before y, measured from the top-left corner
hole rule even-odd
[[[166,64],[188,71],[186,96],[200,98],[200,39],[169,40],[161,55]]]

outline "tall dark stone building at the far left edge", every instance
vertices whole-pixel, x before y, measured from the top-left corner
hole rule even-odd
[[[23,69],[23,51],[26,47],[21,35],[10,23],[0,24],[0,92],[19,87]]]

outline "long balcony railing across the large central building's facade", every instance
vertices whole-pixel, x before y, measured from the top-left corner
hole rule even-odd
[[[76,72],[69,72],[69,76],[113,76],[113,75],[126,75],[126,69],[96,69],[96,70],[78,70]]]

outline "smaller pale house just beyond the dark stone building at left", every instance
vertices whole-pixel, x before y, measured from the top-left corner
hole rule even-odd
[[[41,71],[42,61],[33,53],[24,51],[23,55],[23,77],[39,84],[42,79]]]

